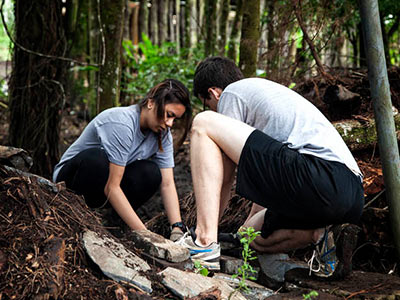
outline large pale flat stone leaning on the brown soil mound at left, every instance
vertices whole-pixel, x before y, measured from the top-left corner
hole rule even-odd
[[[143,259],[113,238],[100,236],[94,231],[85,231],[82,240],[86,252],[104,275],[117,282],[129,282],[145,292],[152,292],[151,281],[141,275],[143,271],[150,270]]]

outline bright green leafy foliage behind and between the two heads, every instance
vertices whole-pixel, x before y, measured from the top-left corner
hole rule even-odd
[[[122,86],[135,100],[144,97],[154,85],[166,78],[177,79],[192,91],[194,71],[197,62],[203,58],[202,47],[192,50],[191,55],[187,49],[181,49],[178,54],[174,43],[153,45],[146,35],[138,47],[130,40],[124,40],[123,47],[129,71],[124,73]],[[201,107],[200,100],[192,99],[192,104]]]

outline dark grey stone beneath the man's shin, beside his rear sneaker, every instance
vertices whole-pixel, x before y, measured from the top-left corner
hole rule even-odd
[[[307,264],[290,259],[287,254],[259,254],[258,261],[262,272],[275,283],[285,282],[285,273],[291,269],[308,269]]]

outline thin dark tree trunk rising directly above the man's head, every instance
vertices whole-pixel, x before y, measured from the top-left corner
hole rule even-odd
[[[205,20],[205,56],[215,54],[215,44],[216,44],[216,19],[217,19],[217,1],[205,0],[204,14],[206,16]]]

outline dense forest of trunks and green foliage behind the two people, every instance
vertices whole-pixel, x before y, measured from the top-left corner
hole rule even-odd
[[[386,63],[398,67],[400,2],[378,2]],[[136,103],[165,78],[191,89],[209,55],[290,88],[366,67],[355,0],[2,0],[1,17],[7,144],[28,150],[45,177],[63,151],[63,117]]]

